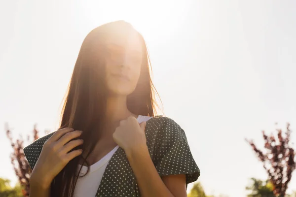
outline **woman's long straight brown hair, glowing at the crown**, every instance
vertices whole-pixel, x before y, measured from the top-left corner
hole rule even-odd
[[[86,158],[74,158],[55,177],[51,184],[52,197],[73,197],[78,178],[78,162],[82,159],[86,163],[98,141],[98,133],[105,118],[107,93],[105,64],[102,58],[104,41],[110,35],[127,36],[129,31],[136,30],[124,21],[107,23],[92,30],[81,45],[63,106],[60,128],[68,127],[83,131],[80,138],[84,143],[75,149],[82,148]],[[155,96],[158,96],[158,93],[150,77],[151,67],[145,40],[140,33],[138,34],[143,47],[143,61],[136,89],[127,96],[127,107],[133,114],[154,116],[158,107]]]

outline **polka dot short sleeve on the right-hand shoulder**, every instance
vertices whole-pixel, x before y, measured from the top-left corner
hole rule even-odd
[[[156,145],[156,169],[160,176],[185,174],[186,186],[196,181],[200,170],[195,163],[184,130],[166,118],[159,130]]]

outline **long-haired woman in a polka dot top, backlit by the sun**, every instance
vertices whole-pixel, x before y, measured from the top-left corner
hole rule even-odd
[[[200,171],[182,128],[154,116],[149,66],[124,21],[86,36],[60,129],[24,148],[30,197],[186,197]]]

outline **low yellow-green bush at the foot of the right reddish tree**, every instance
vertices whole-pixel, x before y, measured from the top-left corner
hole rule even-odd
[[[262,181],[256,178],[251,178],[252,183],[246,187],[251,194],[248,197],[275,197],[273,194],[273,185],[270,181]]]

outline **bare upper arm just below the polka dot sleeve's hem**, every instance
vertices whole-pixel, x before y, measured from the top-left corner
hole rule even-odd
[[[187,197],[185,174],[162,176],[161,179],[174,197]]]

